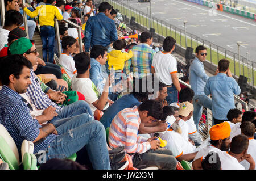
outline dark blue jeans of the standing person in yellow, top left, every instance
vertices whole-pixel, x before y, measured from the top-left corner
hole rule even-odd
[[[41,26],[41,39],[43,44],[43,60],[53,63],[55,30],[53,26]]]

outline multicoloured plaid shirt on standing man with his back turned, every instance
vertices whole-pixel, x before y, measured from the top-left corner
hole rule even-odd
[[[131,71],[138,73],[150,73],[153,56],[156,53],[148,44],[141,43],[133,47],[131,57]]]

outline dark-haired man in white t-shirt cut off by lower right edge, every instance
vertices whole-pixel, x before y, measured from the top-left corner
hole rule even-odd
[[[249,139],[249,146],[247,150],[247,154],[250,154],[253,157],[254,162],[256,161],[256,140],[254,140],[255,133],[255,125],[249,121],[245,121],[240,125],[241,132],[243,135],[247,136]],[[246,160],[240,162],[242,166],[245,167],[245,170],[250,168],[250,163]],[[254,168],[256,170],[256,167]]]

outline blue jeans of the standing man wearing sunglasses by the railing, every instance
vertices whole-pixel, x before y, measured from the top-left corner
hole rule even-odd
[[[210,99],[206,95],[197,95],[193,98],[193,119],[196,125],[196,129],[198,130],[198,124],[202,116],[203,107],[209,108],[212,110],[212,99]]]

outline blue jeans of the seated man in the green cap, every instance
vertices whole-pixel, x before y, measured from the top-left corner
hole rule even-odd
[[[59,112],[57,112],[58,115],[53,117],[51,123],[57,128],[68,121],[70,117],[81,115],[82,113],[89,113],[89,115],[93,116],[89,104],[84,100],[78,100],[75,103],[63,107]]]

